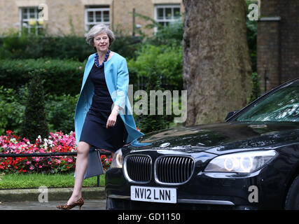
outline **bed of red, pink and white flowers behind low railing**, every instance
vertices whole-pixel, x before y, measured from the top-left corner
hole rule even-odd
[[[75,132],[64,134],[50,132],[48,139],[39,136],[35,143],[28,139],[20,139],[12,131],[6,131],[0,136],[0,153],[70,153],[76,152]],[[104,170],[109,168],[112,158],[101,155]],[[0,172],[4,173],[62,173],[74,172],[76,156],[47,156],[47,157],[20,157],[0,158]]]

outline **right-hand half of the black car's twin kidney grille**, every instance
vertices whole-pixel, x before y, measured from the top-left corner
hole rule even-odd
[[[155,179],[158,183],[185,183],[192,176],[194,166],[193,158],[163,156],[155,162]]]

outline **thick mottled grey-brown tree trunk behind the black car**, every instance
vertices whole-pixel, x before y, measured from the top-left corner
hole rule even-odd
[[[246,105],[251,62],[244,0],[183,0],[185,125],[224,121]]]

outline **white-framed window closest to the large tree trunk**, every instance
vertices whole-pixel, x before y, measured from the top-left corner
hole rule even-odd
[[[181,16],[181,5],[156,5],[155,20],[160,25],[167,26],[169,23],[175,22]]]

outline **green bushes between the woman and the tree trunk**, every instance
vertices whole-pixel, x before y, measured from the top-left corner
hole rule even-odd
[[[137,56],[127,62],[130,83],[134,84],[134,91],[144,89],[148,96],[148,99],[146,99],[148,102],[148,115],[137,116],[134,113],[137,127],[141,132],[148,133],[169,127],[174,119],[174,114],[166,115],[166,101],[164,99],[163,115],[158,115],[157,107],[155,108],[155,114],[150,114],[150,91],[183,90],[183,53],[181,47],[183,23],[178,20],[172,25],[163,27],[151,18],[137,13],[135,15],[151,22],[146,28],[153,29],[153,27],[157,27],[158,30],[153,36],[146,36],[140,32],[145,41],[136,52]],[[135,102],[139,100],[141,98],[135,99]],[[157,102],[157,99],[155,99],[155,102]]]

